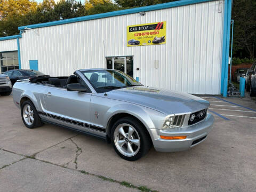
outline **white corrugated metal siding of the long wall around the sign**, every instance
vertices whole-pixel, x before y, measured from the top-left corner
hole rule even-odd
[[[220,94],[223,7],[219,1],[121,15],[22,34],[21,67],[38,60],[52,76],[106,68],[106,56],[133,55],[133,77],[148,86],[187,93]],[[166,21],[166,44],[126,46],[126,26]],[[36,29],[37,30],[37,29]],[[154,63],[159,62],[156,69]],[[136,68],[140,68],[139,71]]]

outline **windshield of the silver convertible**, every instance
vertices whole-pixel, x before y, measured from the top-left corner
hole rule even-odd
[[[116,70],[87,70],[82,72],[98,92],[141,86],[135,79]],[[103,91],[101,91],[103,90]]]

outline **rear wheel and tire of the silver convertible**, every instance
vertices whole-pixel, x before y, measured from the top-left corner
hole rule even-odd
[[[30,111],[29,111],[28,107],[30,108]],[[28,115],[26,115],[26,114],[29,114],[29,118],[28,118]],[[39,127],[42,125],[41,118],[39,117],[35,106],[33,105],[33,103],[30,100],[27,100],[22,103],[21,118],[22,118],[23,123],[29,129],[33,129],[35,127]],[[34,119],[34,120],[32,120],[32,119]]]

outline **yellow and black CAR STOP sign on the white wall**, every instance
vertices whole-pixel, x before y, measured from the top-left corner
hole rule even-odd
[[[127,26],[127,46],[166,44],[166,21]]]

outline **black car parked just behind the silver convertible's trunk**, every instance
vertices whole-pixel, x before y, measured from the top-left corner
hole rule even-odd
[[[9,78],[11,79],[12,85],[14,85],[14,83],[20,79],[27,79],[27,78],[40,77],[40,76],[50,77],[50,75],[45,75],[40,71],[31,70],[31,69],[14,69],[14,70],[6,71],[4,74],[9,76]]]

